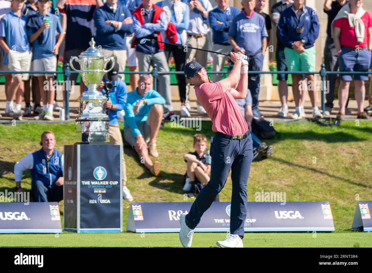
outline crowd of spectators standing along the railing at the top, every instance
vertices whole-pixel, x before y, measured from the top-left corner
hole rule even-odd
[[[275,59],[278,71],[316,71],[314,43],[319,36],[317,11],[304,5],[304,0],[282,0],[271,7],[271,14],[263,12],[267,0],[242,0],[243,8],[228,5],[228,0],[0,0],[0,62],[2,71],[55,70],[56,56],[61,53],[64,63],[89,47],[92,37],[107,56],[113,56],[119,71],[148,71],[157,65],[161,72],[169,71],[168,59],[173,56],[176,70],[185,63],[197,60],[207,66],[208,53],[189,49],[192,46],[216,52],[241,52],[250,57],[249,69],[262,71],[264,56],[270,42],[270,30],[276,27]],[[330,71],[368,71],[371,66],[371,15],[363,10],[363,0],[325,0],[328,16],[324,61]],[[210,35],[209,35],[210,33]],[[212,48],[209,48],[209,37]],[[158,42],[140,43],[147,38]],[[63,43],[64,42],[64,43]],[[159,42],[176,43],[177,46]],[[60,46],[63,44],[63,50]],[[213,70],[222,71],[226,56],[212,54]],[[75,64],[77,65],[77,64]],[[78,67],[76,67],[78,68]],[[29,77],[31,75],[31,77]],[[219,81],[222,74],[215,74]],[[278,74],[278,90],[282,107],[278,116],[288,113],[287,74]],[[35,119],[53,119],[55,90],[53,74],[5,74],[6,108],[10,117],[31,116]],[[119,74],[119,77],[124,77]],[[330,115],[333,108],[336,74],[328,75],[326,111],[317,107],[317,84],[314,74],[292,74],[295,112],[291,118],[305,116],[304,101],[307,91],[312,104],[312,116]],[[30,79],[32,78],[32,79]],[[366,75],[341,75],[337,117],[349,114],[350,82],[354,78],[358,118],[368,118],[363,109]],[[32,88],[30,87],[32,81]],[[76,82],[77,74],[70,77]],[[45,81],[48,82],[45,84]],[[131,74],[131,90],[138,87],[138,75]],[[177,75],[181,102],[181,116],[190,117],[189,86],[182,74]],[[84,90],[80,81],[80,90]],[[32,89],[33,107],[30,104]],[[252,111],[259,111],[260,74],[249,74],[248,89]],[[165,99],[163,116],[174,117],[171,102],[170,76],[158,76],[157,90]],[[26,107],[21,110],[24,97]],[[371,94],[370,94],[371,97]],[[15,105],[13,100],[15,99]],[[41,106],[42,102],[42,106]],[[63,107],[65,107],[65,102]],[[60,107],[58,107],[60,108]],[[57,108],[57,110],[58,110]],[[371,108],[371,109],[370,109]],[[197,110],[205,114],[198,103]]]

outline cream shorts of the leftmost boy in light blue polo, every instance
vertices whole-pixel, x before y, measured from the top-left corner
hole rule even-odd
[[[32,59],[32,52],[25,51],[19,52],[10,50],[8,53],[8,67],[9,70],[14,71],[29,71],[31,68],[31,59]],[[16,77],[17,75],[22,75],[22,80],[27,81],[29,78],[29,74],[12,74],[12,77]]]

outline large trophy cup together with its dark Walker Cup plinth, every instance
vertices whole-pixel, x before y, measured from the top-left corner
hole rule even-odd
[[[70,66],[79,72],[88,90],[78,98],[76,129],[81,142],[64,146],[64,230],[77,233],[121,232],[122,219],[122,145],[108,143],[107,98],[96,90],[105,66],[113,57],[94,47],[71,57]],[[76,70],[72,62],[80,64]],[[113,68],[113,65],[111,66]],[[111,68],[111,69],[112,69]],[[86,145],[90,144],[90,145]]]

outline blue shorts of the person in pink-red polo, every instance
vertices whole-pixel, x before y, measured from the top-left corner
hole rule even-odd
[[[366,72],[371,66],[371,51],[367,48],[360,52],[342,49],[339,58],[341,72],[357,71]],[[357,81],[368,81],[368,75],[354,75]],[[341,75],[341,81],[352,81],[352,74]]]

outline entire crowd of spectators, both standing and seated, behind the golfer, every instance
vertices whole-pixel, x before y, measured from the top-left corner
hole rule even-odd
[[[151,89],[152,80],[148,74],[131,75],[131,90],[118,74],[127,66],[131,71],[147,71],[150,65],[157,64],[159,71],[169,71],[167,60],[174,56],[176,68],[183,71],[186,62],[196,59],[206,66],[207,53],[194,49],[187,50],[187,45],[196,48],[208,48],[208,32],[212,31],[213,50],[229,53],[240,52],[249,56],[250,70],[261,71],[264,55],[269,44],[269,31],[272,24],[277,27],[278,37],[276,60],[278,71],[315,71],[314,43],[319,35],[319,21],[314,9],[304,5],[303,0],[282,0],[273,5],[271,15],[263,13],[266,0],[243,0],[241,10],[228,6],[227,0],[216,0],[217,7],[212,8],[209,0],[164,0],[153,4],[152,0],[58,0],[52,13],[52,3],[48,0],[0,0],[0,47],[1,70],[14,71],[53,71],[62,41],[64,43],[64,62],[71,56],[78,56],[85,51],[92,36],[106,57],[113,56],[116,64],[113,70],[104,75],[97,91],[109,98],[106,108],[109,114],[110,143],[123,144],[119,130],[120,111],[125,112],[124,140],[134,149],[141,163],[152,175],[160,174],[159,156],[156,137],[163,118],[174,116],[171,96],[170,78],[163,74],[158,77],[158,92]],[[327,41],[324,59],[327,69],[331,71],[368,71],[371,66],[372,19],[363,10],[362,0],[325,0],[324,12],[328,15]],[[78,35],[77,35],[78,33]],[[142,38],[158,42],[140,43]],[[168,46],[159,42],[171,42],[180,47]],[[186,49],[186,50],[185,50]],[[214,70],[222,71],[225,56],[214,58]],[[111,65],[111,64],[109,64]],[[109,68],[109,67],[107,67]],[[230,66],[231,70],[232,66]],[[78,67],[77,67],[78,69]],[[32,74],[32,73],[31,73]],[[28,74],[12,74],[6,77],[7,115],[18,117],[31,115],[30,79]],[[53,74],[32,74],[33,112],[35,119],[53,119],[55,105],[52,80]],[[330,90],[327,94],[327,112],[330,114],[334,100],[334,75],[328,75]],[[358,105],[358,118],[368,118],[366,111],[372,110],[371,90],[370,105],[363,109],[365,96],[365,75],[341,75],[338,90],[342,118],[347,110],[350,82],[355,82],[355,97]],[[221,79],[221,75],[214,77]],[[278,116],[288,115],[288,85],[285,74],[279,74],[279,95],[282,107]],[[317,107],[315,88],[307,88],[303,82],[314,81],[314,74],[292,74],[293,94],[296,104],[292,118],[304,117],[304,100],[309,91],[313,107],[312,116],[321,117],[323,113]],[[188,85],[184,75],[177,75],[181,115],[190,116]],[[47,84],[45,84],[45,81]],[[105,82],[113,84],[112,90],[106,90]],[[36,87],[35,87],[36,86]],[[315,85],[313,85],[315,87]],[[237,86],[232,87],[237,88]],[[83,91],[84,88],[81,88]],[[133,90],[133,91],[132,91]],[[254,116],[261,116],[259,111],[260,75],[248,75],[246,98],[237,100],[251,131]],[[26,110],[21,110],[22,97],[25,97]],[[13,106],[13,98],[16,104]],[[42,107],[41,103],[42,102]],[[38,109],[40,108],[40,109]],[[208,109],[207,109],[208,110]],[[205,113],[201,104],[198,111]],[[261,143],[252,136],[254,149],[270,157],[272,146]],[[195,152],[184,156],[187,163],[184,190],[190,195],[200,191],[209,180],[210,157],[206,150],[206,138],[202,134],[194,136]],[[32,189],[37,201],[61,199],[60,188],[63,185],[63,155],[54,150],[55,137],[51,131],[41,136],[42,149],[27,155],[15,165],[17,191],[22,172],[32,169]],[[257,153],[259,155],[259,153]],[[154,162],[151,157],[154,157]],[[45,160],[45,157],[47,161]],[[54,160],[56,167],[53,179],[45,176],[46,165]],[[124,155],[123,197],[129,201],[133,198],[126,188],[126,168]],[[49,170],[48,170],[49,172]],[[41,175],[39,175],[41,174]],[[53,180],[53,181],[52,181]],[[216,201],[218,198],[216,199]]]

